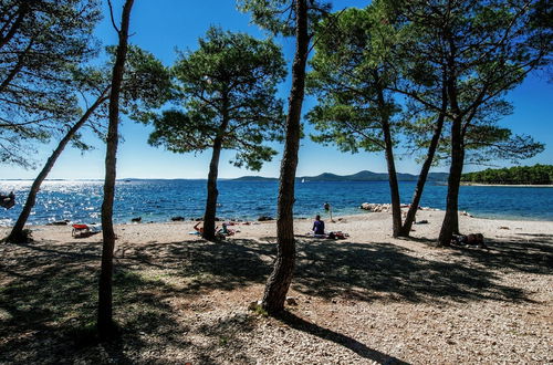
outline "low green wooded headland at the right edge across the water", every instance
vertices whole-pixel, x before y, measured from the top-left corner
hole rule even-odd
[[[553,165],[515,166],[511,168],[488,168],[461,176],[465,184],[490,185],[552,185]]]

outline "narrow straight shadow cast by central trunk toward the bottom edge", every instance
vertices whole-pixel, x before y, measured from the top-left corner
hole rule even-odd
[[[307,322],[304,319],[299,317],[298,315],[290,313],[290,312],[282,312],[278,317],[279,321],[282,323],[286,324],[288,326],[302,331],[305,333],[309,333],[311,335],[317,336],[323,340],[332,341],[335,344],[338,344],[341,346],[344,346],[357,355],[359,355],[363,358],[371,359],[373,362],[376,362],[378,364],[397,364],[397,365],[404,365],[408,364],[404,361],[400,361],[394,356],[386,355],[379,351],[376,351],[374,348],[371,348],[366,346],[365,344],[348,337],[346,335],[343,335],[338,332],[332,331],[330,328],[324,328],[321,327],[314,323]]]

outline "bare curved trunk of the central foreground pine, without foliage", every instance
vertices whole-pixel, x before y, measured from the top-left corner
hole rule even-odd
[[[286,116],[286,138],[281,163],[278,201],[278,253],[274,269],[267,282],[262,306],[271,314],[284,309],[286,293],[292,282],[295,265],[294,241],[294,184],[300,149],[302,104],[305,88],[305,64],[310,38],[307,34],[306,0],[295,0],[295,55],[292,65],[292,88]]]

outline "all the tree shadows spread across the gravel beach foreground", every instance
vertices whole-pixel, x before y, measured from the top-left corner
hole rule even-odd
[[[366,302],[382,298],[409,302],[528,301],[523,290],[502,285],[500,275],[504,270],[549,273],[553,237],[521,234],[517,240],[489,244],[490,252],[448,250],[445,254],[463,260],[446,262],[417,257],[389,243],[299,240],[293,289],[312,296]],[[263,284],[272,269],[275,246],[248,239],[121,244],[114,311],[122,333],[119,341],[109,345],[93,341],[97,243],[7,243],[0,254],[0,325],[8,334],[0,343],[0,363],[133,363],[145,359],[145,350],[158,354],[150,361],[163,362],[168,348],[194,348],[196,362],[212,363],[217,362],[213,348],[221,346],[232,350],[233,361],[247,363],[253,361],[243,351],[248,344],[229,333],[250,331],[253,314],[232,314],[210,326],[198,324],[194,313],[210,310],[197,303],[205,293]],[[175,300],[182,303],[180,313],[171,303]],[[192,314],[182,316],[182,311]],[[364,358],[401,363],[294,314],[284,314],[280,321]],[[230,326],[232,331],[227,331]],[[205,333],[209,337],[206,346],[192,345],[187,340],[190,331]]]

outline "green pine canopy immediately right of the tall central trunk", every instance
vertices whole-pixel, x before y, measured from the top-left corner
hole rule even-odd
[[[400,107],[387,90],[396,73],[383,60],[382,27],[375,7],[347,9],[320,25],[307,77],[307,91],[319,102],[307,114],[315,142],[378,152],[385,149],[383,121],[397,128],[393,117]]]

